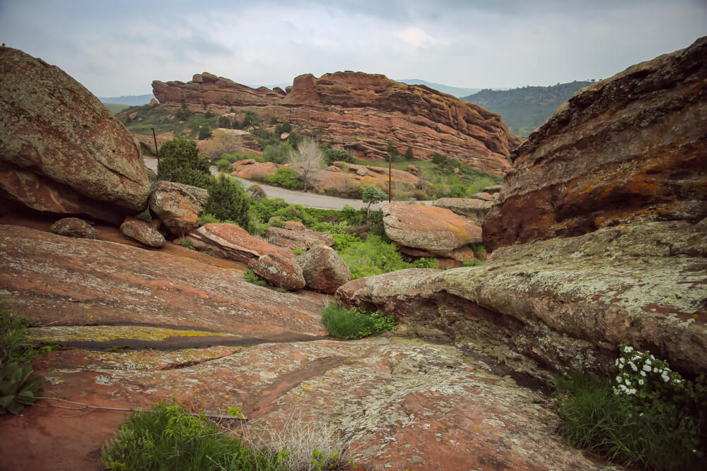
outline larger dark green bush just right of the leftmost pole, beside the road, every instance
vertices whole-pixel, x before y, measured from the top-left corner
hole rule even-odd
[[[199,156],[195,141],[177,136],[160,147],[157,177],[208,189],[211,184],[209,159]]]

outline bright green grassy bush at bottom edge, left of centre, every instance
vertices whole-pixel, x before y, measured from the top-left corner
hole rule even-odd
[[[284,455],[245,446],[178,404],[135,412],[101,455],[107,470],[276,470]]]

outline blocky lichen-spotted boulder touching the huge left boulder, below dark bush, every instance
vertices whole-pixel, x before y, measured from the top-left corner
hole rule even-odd
[[[199,215],[209,191],[198,186],[160,181],[150,197],[150,209],[172,234],[186,234],[199,227]]]

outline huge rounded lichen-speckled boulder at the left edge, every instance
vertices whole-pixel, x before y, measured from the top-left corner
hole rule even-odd
[[[150,184],[132,135],[56,66],[0,48],[0,201],[118,225]]]

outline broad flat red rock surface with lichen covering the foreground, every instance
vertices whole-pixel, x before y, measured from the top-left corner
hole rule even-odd
[[[33,339],[65,348],[33,361],[45,398],[237,405],[250,419],[239,434],[328,424],[366,470],[596,469],[554,436],[558,419],[536,393],[455,347],[324,338],[325,297],[256,287],[163,249],[11,225],[0,234],[6,307],[30,319]],[[52,404],[81,407],[42,399],[0,417],[3,465],[98,470],[127,412],[42,407]]]

